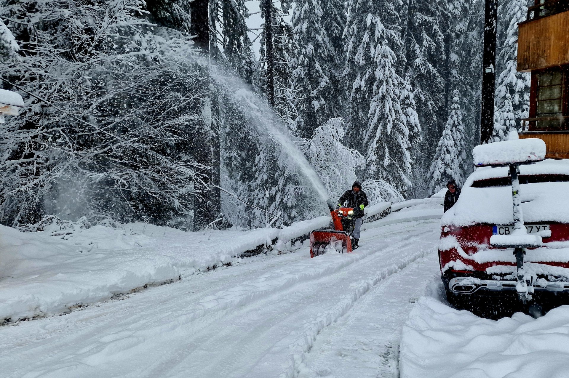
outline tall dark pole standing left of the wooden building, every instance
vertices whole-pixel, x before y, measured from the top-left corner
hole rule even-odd
[[[486,0],[484,13],[484,55],[482,73],[482,111],[480,144],[490,142],[494,131],[494,81],[496,81],[496,24],[497,0]]]

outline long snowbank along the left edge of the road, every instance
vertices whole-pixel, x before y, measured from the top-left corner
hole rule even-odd
[[[0,226],[0,322],[57,314],[145,285],[229,263],[278,236],[292,238],[327,217],[284,230],[184,232],[131,223],[20,232]],[[282,235],[281,235],[282,234]]]

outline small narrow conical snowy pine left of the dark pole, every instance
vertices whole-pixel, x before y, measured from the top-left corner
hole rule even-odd
[[[436,147],[435,159],[429,171],[430,181],[428,188],[430,194],[443,189],[447,180],[452,178],[460,184],[465,169],[466,151],[464,144],[464,127],[460,111],[460,93],[453,92],[451,114],[448,115],[443,135]]]

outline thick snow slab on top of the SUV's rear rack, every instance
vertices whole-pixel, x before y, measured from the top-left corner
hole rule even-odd
[[[504,140],[481,144],[472,150],[476,167],[540,161],[545,158],[545,142],[537,138]]]

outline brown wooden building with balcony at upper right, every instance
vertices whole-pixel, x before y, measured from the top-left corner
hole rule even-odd
[[[569,0],[535,0],[519,23],[518,71],[531,72],[530,114],[519,138],[540,138],[546,157],[569,159]]]

